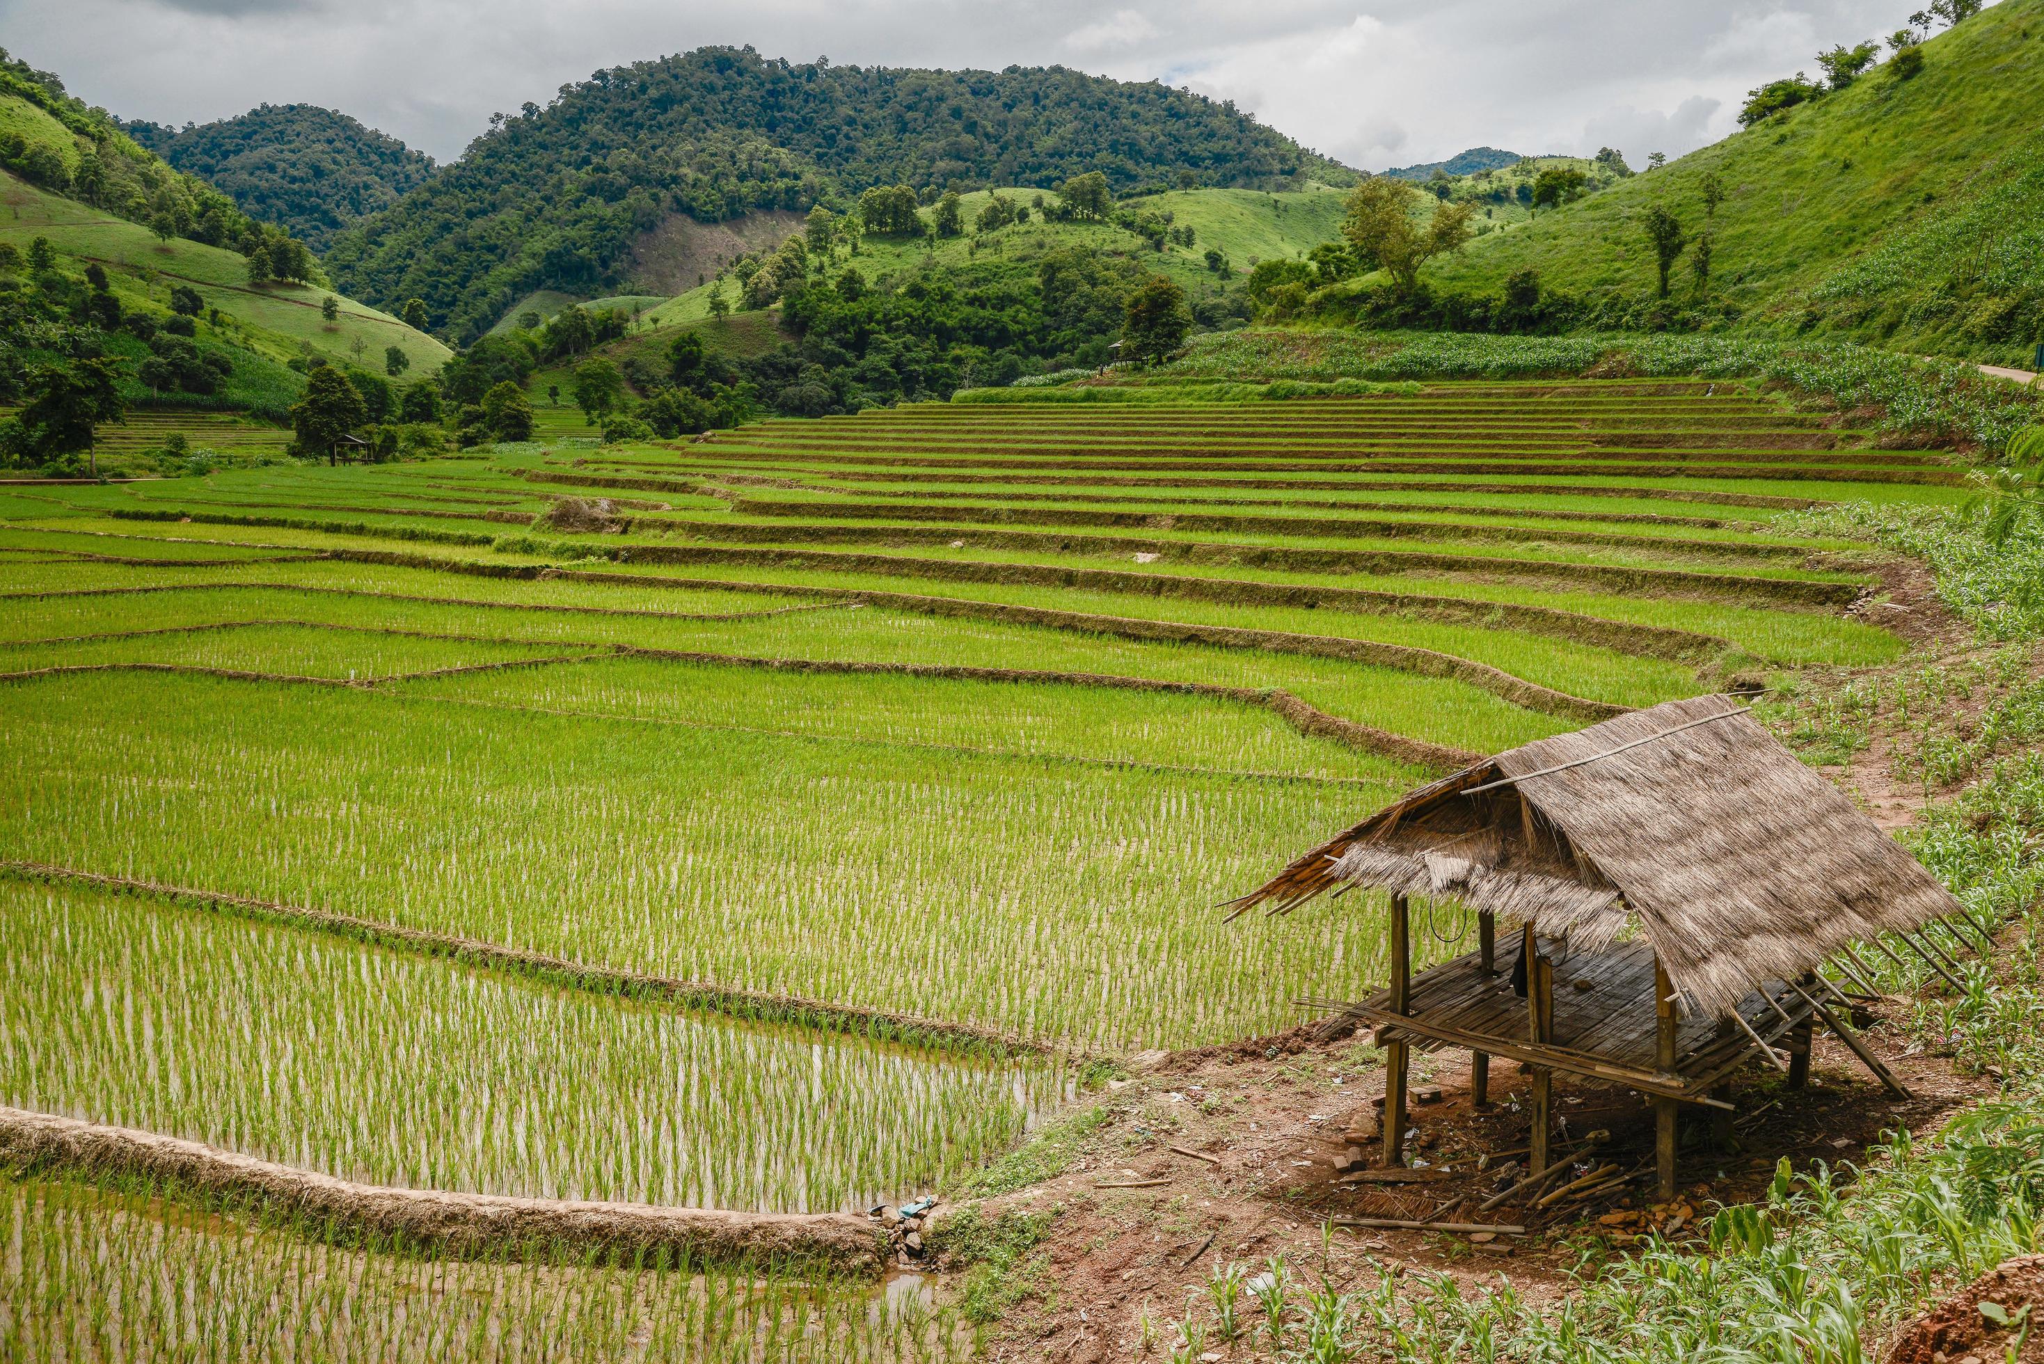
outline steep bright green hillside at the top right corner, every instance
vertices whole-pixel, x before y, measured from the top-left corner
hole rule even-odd
[[[1643,215],[1713,241],[1707,307],[1739,325],[1905,350],[2028,360],[2044,339],[2044,0],[2003,0],[1844,90],[1776,112],[1605,194],[1488,235],[1429,272],[1435,290],[1547,290],[1623,317],[1650,301]],[[1782,53],[1782,65],[1807,65]],[[1713,178],[1725,198],[1705,207]],[[1692,254],[1676,264],[1690,286]],[[1680,299],[1678,299],[1680,303]]]

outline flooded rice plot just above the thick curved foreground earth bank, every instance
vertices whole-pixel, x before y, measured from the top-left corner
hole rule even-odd
[[[852,1211],[973,1170],[1069,1084],[18,881],[0,961],[6,1104],[364,1184]]]

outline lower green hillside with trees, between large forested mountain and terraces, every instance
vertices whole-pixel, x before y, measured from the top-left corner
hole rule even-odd
[[[1030,219],[971,231],[995,194],[1026,207]],[[840,411],[865,401],[942,397],[967,380],[1004,382],[1075,364],[1098,366],[1112,360],[1108,346],[1120,331],[1126,290],[1145,276],[1175,280],[1208,325],[1239,321],[1247,315],[1243,278],[1249,268],[1300,256],[1335,233],[1343,192],[1308,182],[1288,192],[1139,194],[1116,204],[1120,221],[1049,221],[1036,202],[1055,209],[1059,196],[1030,188],[977,190],[961,194],[967,231],[957,237],[865,235],[854,245],[832,245],[828,256],[807,254],[801,282],[785,284],[781,303],[771,307],[748,309],[744,280],[754,268],[781,268],[773,252],[754,254],[717,280],[656,307],[640,297],[585,303],[589,311],[638,311],[625,335],[591,354],[619,364],[638,393],[650,397],[666,382],[666,348],[681,331],[695,329],[707,350],[730,358],[752,378],[760,401],[779,411],[799,411],[811,401],[816,382],[832,393],[822,409]],[[922,217],[930,221],[932,211],[924,209]],[[1143,225],[1151,235],[1139,231]],[[1175,237],[1155,235],[1159,225]],[[1210,249],[1222,254],[1222,270],[1208,264]],[[846,276],[856,276],[858,284],[846,284]],[[1073,278],[1085,282],[1071,284]],[[856,321],[842,315],[842,305],[818,305],[818,297],[846,288],[865,290]],[[738,309],[724,319],[711,315],[719,294]],[[795,303],[783,327],[789,299]],[[531,294],[493,335],[511,337],[519,315],[550,317],[560,307],[558,294]],[[811,327],[820,333],[805,335]],[[572,368],[583,358],[570,354],[540,364],[527,380],[536,401],[550,389],[568,393]]]

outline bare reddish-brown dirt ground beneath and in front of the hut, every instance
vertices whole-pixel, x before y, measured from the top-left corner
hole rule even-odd
[[[1889,1004],[1895,1016],[1903,1008],[1901,1000]],[[1343,1286],[1376,1282],[1378,1266],[1400,1264],[1453,1274],[1478,1292],[1508,1274],[1523,1299],[1539,1303],[1568,1290],[1568,1270],[1588,1249],[1623,1247],[1645,1229],[1682,1235],[1717,1202],[1764,1196],[1780,1157],[1797,1170],[1858,1162],[1885,1131],[1932,1127],[1987,1090],[1948,1061],[1901,1045],[1899,1029],[1876,1025],[1868,1043],[1915,1094],[1909,1102],[1889,1098],[1844,1045],[1819,1033],[1807,1090],[1788,1090],[1780,1074],[1758,1063],[1744,1074],[1731,1147],[1711,1145],[1701,1115],[1684,1125],[1684,1192],[1652,1207],[1647,1104],[1627,1090],[1558,1076],[1555,1151],[1572,1168],[1535,1198],[1607,1166],[1623,1182],[1562,1194],[1543,1209],[1513,1198],[1478,1211],[1525,1174],[1527,1078],[1519,1067],[1492,1061],[1492,1102],[1478,1110],[1466,1053],[1414,1055],[1419,1102],[1406,1147],[1423,1168],[1394,1176],[1412,1182],[1380,1184],[1372,1182],[1384,1174],[1380,1143],[1353,1139],[1376,1127],[1372,1100],[1384,1094],[1378,1051],[1367,1033],[1327,1045],[1310,1033],[1302,1027],[1159,1059],[1100,1098],[1110,1117],[1065,1174],[989,1200],[989,1213],[1059,1209],[1042,1247],[1040,1292],[1010,1313],[989,1358],[1143,1358],[1141,1313],[1157,1323],[1181,1317],[1188,1297],[1204,1297],[1216,1264],[1239,1260],[1257,1272],[1280,1254],[1308,1276],[1318,1276],[1325,1260]],[[1361,1178],[1341,1174],[1351,1145],[1367,1153]],[[1513,1225],[1525,1233],[1337,1229],[1329,1247],[1322,1225],[1339,1217]],[[1245,1342],[1216,1358],[1249,1360],[1255,1352]]]

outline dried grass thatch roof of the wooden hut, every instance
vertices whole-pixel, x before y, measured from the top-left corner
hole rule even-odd
[[[1674,986],[1709,1014],[1844,943],[1958,910],[1838,787],[1721,695],[1543,738],[1419,787],[1237,912],[1284,912],[1347,883],[1455,898],[1584,951],[1637,920]]]

